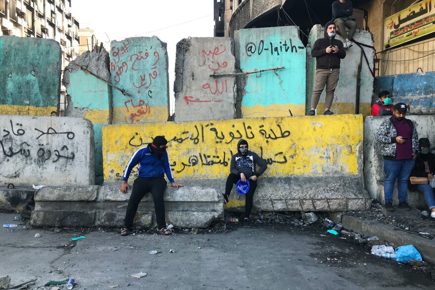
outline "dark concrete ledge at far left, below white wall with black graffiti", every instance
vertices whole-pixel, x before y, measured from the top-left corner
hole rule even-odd
[[[34,195],[36,190],[30,188],[8,189],[0,187],[0,210],[23,210],[27,199]]]

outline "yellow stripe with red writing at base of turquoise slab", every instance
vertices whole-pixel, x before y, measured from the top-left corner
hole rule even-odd
[[[113,123],[164,122],[169,117],[168,106],[113,107]]]

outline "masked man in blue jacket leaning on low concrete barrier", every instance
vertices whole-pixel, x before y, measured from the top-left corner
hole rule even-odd
[[[165,203],[163,193],[166,190],[166,180],[164,174],[171,182],[171,186],[178,189],[181,184],[174,182],[171,166],[169,165],[168,153],[166,152],[168,141],[163,136],[156,136],[152,143],[140,148],[131,156],[123,175],[121,192],[127,193],[130,185],[127,183],[131,169],[139,164],[139,176],[134,180],[133,190],[127,205],[124,228],[121,236],[127,236],[131,232],[133,219],[136,215],[137,206],[145,193],[151,192],[154,201],[154,210],[157,220],[157,232],[162,235],[170,235],[171,231],[166,229]]]

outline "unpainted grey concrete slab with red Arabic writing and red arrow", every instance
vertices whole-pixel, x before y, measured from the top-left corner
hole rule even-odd
[[[188,38],[177,44],[176,51],[174,120],[233,119],[234,41],[222,37]],[[211,77],[213,74],[217,76]]]

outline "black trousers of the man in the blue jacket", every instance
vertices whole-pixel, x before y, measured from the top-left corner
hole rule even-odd
[[[131,230],[134,216],[136,215],[137,206],[140,200],[147,192],[151,192],[154,201],[154,211],[156,213],[157,228],[166,227],[165,221],[165,203],[163,193],[166,190],[166,180],[163,177],[142,178],[138,177],[133,183],[129,204],[127,205],[126,218],[124,226]]]

